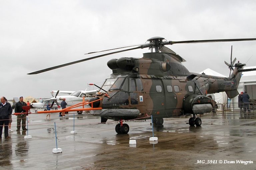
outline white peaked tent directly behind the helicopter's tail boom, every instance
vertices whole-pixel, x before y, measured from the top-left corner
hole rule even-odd
[[[205,73],[206,75],[211,75],[211,76],[219,76],[219,77],[227,77],[224,76],[210,68],[207,68],[203,71],[201,71],[199,74]],[[213,97],[213,100],[215,100],[218,103],[226,103],[227,102],[227,95],[225,92],[220,92],[220,93],[214,93],[214,94],[208,94],[211,95]]]

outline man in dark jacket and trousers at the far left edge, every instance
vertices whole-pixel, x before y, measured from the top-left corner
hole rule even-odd
[[[9,115],[12,114],[12,106],[7,102],[5,97],[1,97],[0,103],[0,139],[2,139],[2,132],[4,126],[4,137],[11,138],[8,133]]]

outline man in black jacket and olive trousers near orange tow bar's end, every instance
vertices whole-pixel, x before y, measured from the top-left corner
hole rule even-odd
[[[27,106],[25,102],[23,102],[23,97],[20,97],[20,101],[16,103],[15,105],[15,113],[23,113],[26,112],[24,109],[22,109],[22,106]],[[26,128],[26,114],[17,115],[17,131],[20,131],[20,123],[22,120],[22,130],[27,130]]]

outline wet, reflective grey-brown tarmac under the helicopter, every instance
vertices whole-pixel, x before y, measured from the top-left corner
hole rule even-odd
[[[12,129],[16,130],[16,116]],[[189,127],[189,118],[164,119],[154,127],[158,141],[152,137],[150,120],[126,122],[128,134],[116,134],[115,123],[98,124],[100,119],[88,114],[73,114],[62,119],[51,114],[29,115],[29,135],[26,131],[10,132],[11,139],[0,140],[0,169],[256,169],[255,115],[240,117],[230,114],[202,116],[201,127]],[[52,153],[57,144],[62,153]],[[129,140],[137,145],[129,145]],[[241,162],[251,161],[251,162]],[[228,162],[229,161],[229,162]],[[252,163],[253,161],[253,163]]]

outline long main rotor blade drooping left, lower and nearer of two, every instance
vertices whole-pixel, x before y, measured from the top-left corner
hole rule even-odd
[[[124,51],[129,51],[129,50],[138,49],[138,48],[144,48],[144,46],[141,45],[141,46],[130,48],[130,49],[124,49],[124,50],[120,50],[120,51],[115,51],[115,52],[110,52],[110,53],[106,53],[106,54],[102,54],[102,55],[97,55],[97,56],[94,56],[94,57],[85,58],[85,59],[69,62],[69,63],[66,63],[66,64],[61,64],[61,65],[58,65],[58,66],[42,69],[42,70],[35,71],[35,72],[32,72],[32,73],[28,73],[28,74],[29,75],[31,75],[31,74],[39,74],[39,73],[43,73],[43,72],[46,72],[46,71],[54,70],[56,68],[65,67],[65,66],[68,66],[68,65],[71,65],[71,64],[76,64],[76,63],[79,63],[79,62],[83,62],[83,61],[87,61],[87,60],[103,57],[103,56],[106,56],[106,55],[111,55],[111,54],[115,54],[115,53],[119,53],[119,52],[124,52]]]

